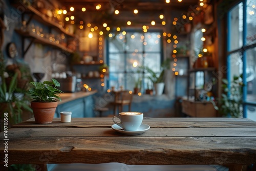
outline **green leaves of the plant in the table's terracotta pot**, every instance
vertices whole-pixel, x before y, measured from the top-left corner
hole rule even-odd
[[[30,82],[34,86],[29,90],[29,94],[33,97],[35,102],[54,102],[60,100],[58,93],[63,93],[56,87],[60,87],[60,83],[52,78],[52,81],[44,82]],[[53,87],[54,86],[54,87]]]

